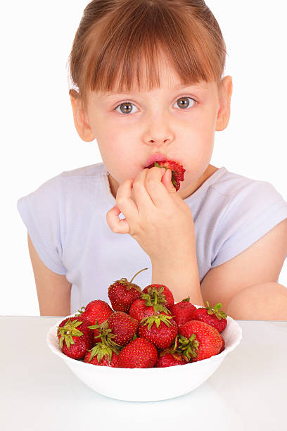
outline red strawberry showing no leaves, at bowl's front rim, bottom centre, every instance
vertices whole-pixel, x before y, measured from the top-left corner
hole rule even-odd
[[[127,344],[119,354],[120,368],[153,368],[158,351],[146,338],[136,338]]]

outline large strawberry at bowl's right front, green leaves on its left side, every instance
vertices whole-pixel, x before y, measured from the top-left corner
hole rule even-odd
[[[179,327],[179,350],[192,362],[217,355],[222,348],[222,335],[200,320],[190,320]]]

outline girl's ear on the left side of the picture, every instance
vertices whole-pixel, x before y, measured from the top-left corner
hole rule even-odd
[[[72,104],[72,115],[78,135],[83,141],[91,142],[95,137],[89,125],[88,115],[82,107],[82,101],[79,99],[79,94],[75,89],[70,89],[69,95]]]

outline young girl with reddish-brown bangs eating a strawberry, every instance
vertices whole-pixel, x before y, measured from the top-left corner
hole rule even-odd
[[[239,319],[287,319],[277,283],[287,203],[268,182],[210,165],[229,123],[226,46],[203,0],[94,0],[70,53],[79,137],[103,163],[64,171],[18,201],[42,316],[67,316],[134,282]],[[185,169],[176,191],[170,169]]]

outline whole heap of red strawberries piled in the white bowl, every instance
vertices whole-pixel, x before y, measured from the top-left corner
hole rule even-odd
[[[58,325],[63,354],[98,366],[153,368],[202,361],[224,350],[222,304],[212,308],[207,301],[196,308],[189,298],[174,304],[167,286],[141,290],[134,277],[108,287],[113,309],[96,299]]]

